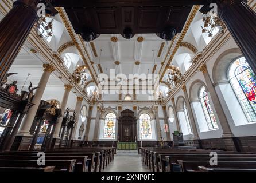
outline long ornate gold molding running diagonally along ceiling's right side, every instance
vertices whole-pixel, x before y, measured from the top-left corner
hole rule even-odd
[[[170,55],[170,58],[169,58],[169,60],[168,60],[168,62],[167,62],[167,65],[166,65],[166,67],[165,67],[164,72],[163,72],[162,75],[161,75],[160,80],[162,80],[162,78],[164,77],[164,74],[165,74],[166,70],[168,69],[168,66],[170,65],[170,63],[172,63],[172,59],[174,58],[174,55],[176,54],[177,50],[179,49],[181,42],[183,41],[185,35],[187,34],[187,31],[188,31],[189,27],[191,26],[191,23],[192,23],[193,19],[195,18],[195,15],[196,15],[197,11],[199,10],[199,7],[200,7],[199,5],[196,5],[196,6],[193,7],[192,13],[191,13],[190,17],[188,18],[187,23],[186,23],[185,26],[184,26],[184,30],[183,30],[182,33],[180,34],[179,40],[178,40],[177,44],[175,45],[172,54]],[[173,39],[173,40],[174,40],[174,39]],[[172,47],[172,46],[170,46],[170,48],[171,48],[171,47]]]

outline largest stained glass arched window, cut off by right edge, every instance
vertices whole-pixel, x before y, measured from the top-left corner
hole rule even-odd
[[[249,122],[256,121],[256,76],[245,57],[231,63],[228,78],[247,120]]]

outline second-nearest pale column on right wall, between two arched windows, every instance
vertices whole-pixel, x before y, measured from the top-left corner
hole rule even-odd
[[[189,120],[191,122],[194,139],[199,139],[198,131],[197,131],[197,128],[196,128],[195,118],[193,116],[192,108],[191,108],[190,101],[189,101],[189,98],[188,98],[187,88],[186,88],[185,85],[182,86],[182,90],[184,92],[185,101],[186,101],[187,108],[188,108],[188,117],[189,117]]]

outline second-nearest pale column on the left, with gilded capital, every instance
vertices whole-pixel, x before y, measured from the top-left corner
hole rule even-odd
[[[62,97],[61,104],[60,104],[60,109],[61,109],[62,117],[58,118],[53,138],[59,138],[61,122],[63,120],[64,112],[65,112],[65,109],[66,109],[66,106],[67,106],[69,92],[72,90],[72,86],[71,85],[64,85],[64,87],[65,87],[65,92],[64,92],[64,95]]]

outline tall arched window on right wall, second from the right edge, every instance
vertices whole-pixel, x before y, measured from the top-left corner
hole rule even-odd
[[[216,118],[214,116],[214,112],[211,108],[211,104],[204,86],[202,86],[200,89],[199,98],[202,108],[204,110],[204,115],[207,121],[208,129],[218,129]]]

